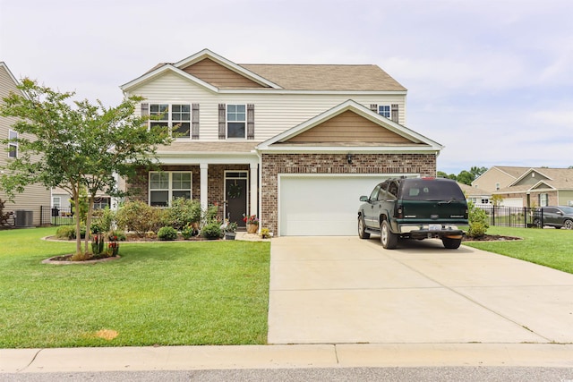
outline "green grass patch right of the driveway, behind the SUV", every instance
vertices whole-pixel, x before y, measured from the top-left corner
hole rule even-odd
[[[464,244],[573,274],[573,231],[571,230],[492,226],[487,230],[487,233],[518,236],[524,240],[515,242],[464,242]]]

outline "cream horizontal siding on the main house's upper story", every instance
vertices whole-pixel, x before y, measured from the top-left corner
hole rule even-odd
[[[255,140],[268,140],[353,99],[370,108],[372,104],[398,105],[399,123],[406,123],[406,96],[396,94],[302,94],[261,90],[219,94],[176,75],[165,73],[130,92],[146,98],[146,103],[197,103],[200,105],[200,140],[218,140],[218,104],[253,104]],[[139,111],[138,111],[139,113]]]

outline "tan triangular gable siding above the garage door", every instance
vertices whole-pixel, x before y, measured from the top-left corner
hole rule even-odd
[[[381,128],[354,112],[346,111],[325,123],[303,132],[289,142],[319,143],[319,142],[378,142],[378,143],[409,143],[404,137]]]

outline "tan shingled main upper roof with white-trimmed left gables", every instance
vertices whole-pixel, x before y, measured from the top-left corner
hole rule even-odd
[[[152,80],[166,71],[207,87],[212,91],[235,89],[202,81],[191,74],[190,68],[204,60],[210,60],[229,72],[243,76],[258,86],[253,89],[286,91],[346,91],[346,92],[398,92],[406,93],[406,88],[381,70],[377,65],[316,65],[316,64],[235,64],[227,58],[203,49],[174,64],[158,64],[149,72],[120,86],[129,91]]]

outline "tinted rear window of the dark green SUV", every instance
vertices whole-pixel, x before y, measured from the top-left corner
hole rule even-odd
[[[402,181],[405,200],[464,200],[458,183],[438,179],[406,179]]]

